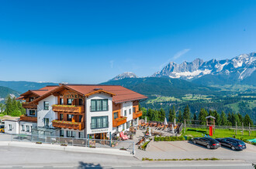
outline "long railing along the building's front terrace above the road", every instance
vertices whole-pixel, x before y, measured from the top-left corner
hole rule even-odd
[[[24,142],[40,142],[43,144],[62,144],[80,147],[102,147],[102,148],[116,148],[127,150],[135,154],[135,144],[133,141],[120,140],[99,140],[89,138],[73,138],[73,137],[54,137],[43,135],[26,135],[26,134],[11,134],[11,141]]]

